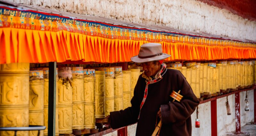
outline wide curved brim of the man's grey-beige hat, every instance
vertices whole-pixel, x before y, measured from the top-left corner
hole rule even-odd
[[[143,63],[143,62],[149,62],[149,61],[163,60],[163,59],[166,59],[168,57],[171,57],[171,55],[165,54],[165,53],[163,53],[160,56],[149,57],[149,58],[139,58],[138,55],[137,55],[137,56],[131,57],[131,60],[133,62],[136,62],[136,63]]]

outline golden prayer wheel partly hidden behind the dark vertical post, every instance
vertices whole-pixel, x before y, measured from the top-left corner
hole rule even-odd
[[[58,68],[57,68],[57,74],[56,74],[56,81],[58,81]],[[49,68],[43,68],[44,72],[44,126],[46,126],[46,129],[44,130],[44,135],[48,135],[48,98],[49,98]],[[56,90],[58,88],[58,84],[56,82]],[[58,105],[58,94],[56,91],[56,109],[55,113],[58,115],[59,113],[59,105]],[[59,135],[59,116],[55,116],[55,135]]]

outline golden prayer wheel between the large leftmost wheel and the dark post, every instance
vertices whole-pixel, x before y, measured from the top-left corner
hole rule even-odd
[[[43,69],[29,71],[29,125],[44,125],[44,74]],[[37,136],[38,131],[30,131]],[[44,132],[40,132],[43,136]]]

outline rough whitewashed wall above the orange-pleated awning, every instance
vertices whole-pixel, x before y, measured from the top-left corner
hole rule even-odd
[[[256,21],[196,0],[7,0],[59,11],[256,41]]]

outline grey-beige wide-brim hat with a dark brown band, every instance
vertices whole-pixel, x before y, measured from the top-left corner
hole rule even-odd
[[[159,43],[145,43],[140,46],[139,55],[131,57],[136,63],[163,60],[171,55],[163,53],[162,45]]]

